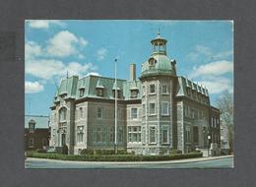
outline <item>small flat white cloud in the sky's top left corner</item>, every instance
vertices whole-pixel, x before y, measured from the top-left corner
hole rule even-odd
[[[32,29],[48,29],[50,25],[64,26],[65,24],[58,20],[28,20],[26,21]]]

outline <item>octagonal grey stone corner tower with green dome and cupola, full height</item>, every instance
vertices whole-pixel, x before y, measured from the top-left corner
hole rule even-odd
[[[168,154],[173,148],[175,61],[166,55],[167,40],[151,40],[152,54],[142,65],[142,139],[144,155]]]

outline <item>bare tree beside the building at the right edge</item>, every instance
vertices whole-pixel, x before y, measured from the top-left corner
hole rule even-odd
[[[217,100],[218,107],[221,110],[221,121],[227,126],[227,136],[230,152],[233,153],[233,138],[234,138],[234,128],[233,128],[233,94],[225,92],[220,95]]]

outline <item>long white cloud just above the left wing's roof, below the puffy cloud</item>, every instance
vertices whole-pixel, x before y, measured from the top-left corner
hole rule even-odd
[[[32,59],[26,63],[26,73],[43,80],[51,80],[54,77],[61,78],[66,76],[67,72],[70,76],[83,76],[95,70],[96,66],[92,63],[70,62],[64,64],[61,60],[54,59]]]

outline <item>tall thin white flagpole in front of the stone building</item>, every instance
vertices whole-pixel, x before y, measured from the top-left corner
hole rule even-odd
[[[116,80],[116,62],[117,59],[114,59],[114,77],[115,77],[115,91],[114,91],[114,153],[117,154],[117,80]]]

